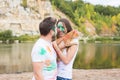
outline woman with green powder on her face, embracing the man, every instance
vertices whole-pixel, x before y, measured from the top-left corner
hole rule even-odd
[[[57,37],[62,38],[65,34],[72,31],[72,27],[67,19],[60,19],[57,22]],[[58,74],[57,80],[72,80],[72,67],[73,62],[78,52],[79,42],[78,39],[72,39],[72,42],[75,43],[71,46],[60,46],[57,45],[57,42],[53,42],[54,49],[57,52],[58,57]],[[62,45],[62,44],[61,44]]]

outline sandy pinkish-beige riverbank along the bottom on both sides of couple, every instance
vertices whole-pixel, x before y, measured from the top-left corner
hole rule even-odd
[[[32,72],[0,74],[0,80],[31,80]],[[120,80],[120,69],[74,69],[73,80]]]

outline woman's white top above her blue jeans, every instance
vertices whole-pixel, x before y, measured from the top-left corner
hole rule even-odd
[[[79,46],[78,39],[73,39],[72,43],[76,43]],[[68,78],[68,79],[72,79],[72,67],[73,67],[73,62],[74,62],[74,59],[76,57],[77,52],[78,52],[78,48],[76,49],[74,57],[72,58],[70,63],[64,64],[62,61],[59,61],[57,63],[58,64],[58,74],[57,74],[57,76],[63,77],[63,78]],[[67,49],[63,50],[63,54],[64,55],[67,54]]]

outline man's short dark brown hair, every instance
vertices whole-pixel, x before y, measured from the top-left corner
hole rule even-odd
[[[45,18],[40,24],[39,24],[39,31],[41,35],[46,36],[50,30],[55,27],[56,19],[52,17]]]

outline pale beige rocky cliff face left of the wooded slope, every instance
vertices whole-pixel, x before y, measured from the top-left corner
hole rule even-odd
[[[39,34],[40,21],[53,15],[49,0],[0,0],[0,31],[9,29],[16,36]]]

